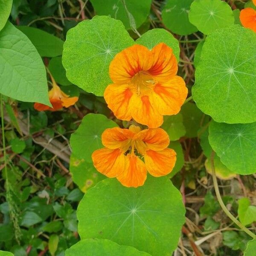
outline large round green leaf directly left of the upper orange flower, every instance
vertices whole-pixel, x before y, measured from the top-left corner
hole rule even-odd
[[[67,32],[62,63],[67,78],[83,90],[103,96],[111,83],[109,64],[114,55],[134,44],[119,20],[95,16]]]

